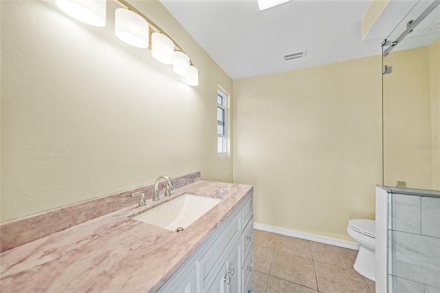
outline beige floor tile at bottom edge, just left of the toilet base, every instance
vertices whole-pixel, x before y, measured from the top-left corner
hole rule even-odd
[[[314,261],[318,290],[323,293],[370,293],[364,277],[353,268]]]

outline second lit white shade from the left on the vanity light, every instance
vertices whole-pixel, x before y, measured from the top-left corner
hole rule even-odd
[[[139,14],[124,8],[115,10],[115,35],[129,45],[148,47],[148,23]]]

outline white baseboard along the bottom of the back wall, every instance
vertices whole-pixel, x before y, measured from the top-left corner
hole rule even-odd
[[[340,246],[343,248],[350,248],[350,249],[354,249],[354,250],[359,250],[359,243],[354,242],[354,241],[326,237],[326,236],[321,236],[321,235],[316,235],[316,234],[311,234],[311,233],[289,230],[289,229],[285,229],[285,228],[278,228],[275,226],[268,226],[268,225],[259,224],[259,223],[254,223],[254,228],[257,230],[272,232],[272,233],[281,234],[281,235],[285,235],[285,236],[296,237],[296,238],[300,238],[300,239],[316,241],[316,242],[330,244],[330,245],[334,245],[334,246]]]

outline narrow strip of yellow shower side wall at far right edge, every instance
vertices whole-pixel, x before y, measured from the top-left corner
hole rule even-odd
[[[428,46],[431,107],[432,189],[440,191],[440,38]]]

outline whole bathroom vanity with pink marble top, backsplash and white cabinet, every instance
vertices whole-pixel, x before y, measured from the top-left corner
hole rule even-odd
[[[254,259],[253,188],[198,176],[173,179],[177,187],[170,197],[162,191],[157,202],[151,200],[153,186],[146,186],[146,206],[131,197],[137,188],[98,198],[92,205],[85,202],[2,223],[2,246],[12,248],[0,254],[1,292],[247,292]],[[181,232],[133,218],[188,193],[221,201]],[[24,241],[23,233],[14,232],[24,224],[28,230],[44,230],[67,222],[66,215],[76,219],[78,210],[98,213],[114,200],[130,204],[13,246],[16,235]]]

